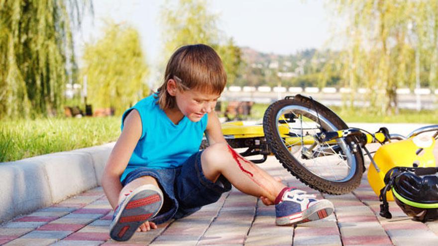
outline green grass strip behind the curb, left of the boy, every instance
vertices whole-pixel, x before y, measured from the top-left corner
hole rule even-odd
[[[115,141],[120,117],[2,120],[0,130],[0,162],[8,162]]]

